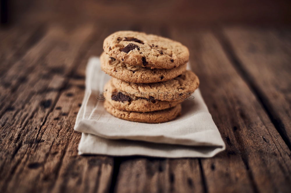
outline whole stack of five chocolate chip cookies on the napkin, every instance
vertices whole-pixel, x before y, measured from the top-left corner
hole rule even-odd
[[[104,107],[120,119],[171,121],[181,114],[182,101],[198,88],[198,77],[186,70],[189,51],[179,42],[118,31],[104,40],[103,49],[101,68],[113,77],[104,86]]]

